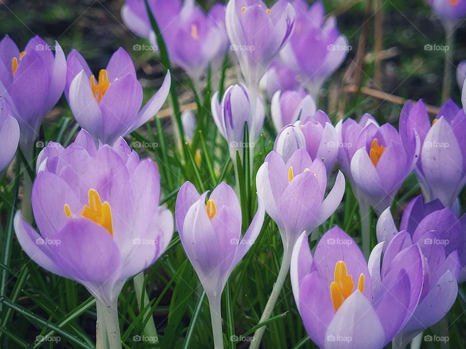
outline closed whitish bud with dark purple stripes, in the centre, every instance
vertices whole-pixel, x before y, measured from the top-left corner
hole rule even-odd
[[[218,131],[228,142],[233,162],[236,159],[236,150],[239,150],[242,157],[243,151],[241,148],[254,146],[254,143],[244,143],[245,123],[248,124],[252,142],[255,142],[259,137],[264,123],[264,106],[261,99],[257,97],[256,113],[252,115],[250,98],[250,93],[243,84],[232,85],[227,88],[221,103],[218,102],[218,92],[212,96],[212,116]]]

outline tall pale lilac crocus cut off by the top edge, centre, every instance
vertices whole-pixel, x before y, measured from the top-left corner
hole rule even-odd
[[[259,87],[266,69],[294,30],[291,4],[279,0],[267,8],[262,0],[230,0],[226,11],[228,37],[250,89]]]

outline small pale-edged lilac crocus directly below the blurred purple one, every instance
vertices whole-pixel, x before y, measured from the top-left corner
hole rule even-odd
[[[277,91],[270,106],[273,125],[279,132],[285,125],[294,124],[299,118],[314,115],[316,112],[316,102],[310,95],[306,95],[303,90],[297,91]]]

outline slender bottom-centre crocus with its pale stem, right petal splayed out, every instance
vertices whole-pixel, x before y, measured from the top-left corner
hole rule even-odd
[[[186,182],[176,199],[176,226],[184,251],[199,276],[209,299],[215,348],[223,348],[220,299],[234,267],[248,252],[264,222],[264,203],[259,197],[257,212],[241,237],[241,207],[233,189],[219,184],[205,203]]]

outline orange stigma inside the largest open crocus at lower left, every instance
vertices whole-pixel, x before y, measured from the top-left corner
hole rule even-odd
[[[64,209],[67,217],[70,217],[72,212],[68,204],[65,204]],[[91,221],[103,226],[113,237],[112,212],[110,210],[110,204],[106,201],[102,204],[97,190],[89,190],[89,204],[88,206],[83,207],[83,212],[81,212],[80,215],[81,217],[90,219]]]

